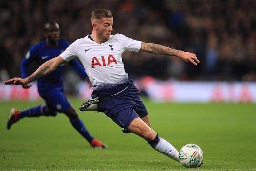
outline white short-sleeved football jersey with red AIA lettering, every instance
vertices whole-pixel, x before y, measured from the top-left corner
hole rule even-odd
[[[60,56],[67,62],[78,57],[93,86],[117,84],[127,78],[122,53],[138,52],[141,41],[122,34],[111,35],[108,41],[98,44],[90,34],[73,42]]]

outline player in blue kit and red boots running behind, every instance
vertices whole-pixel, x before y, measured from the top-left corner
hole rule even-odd
[[[61,54],[67,47],[69,42],[59,38],[59,24],[50,21],[44,25],[44,36],[46,40],[32,46],[21,63],[22,77],[28,76],[28,65],[36,61],[40,66],[46,61]],[[69,61],[70,66],[74,68],[80,76],[87,78],[87,74],[83,66],[77,60]],[[54,72],[37,80],[39,95],[45,100],[46,105],[39,105],[24,111],[11,109],[7,121],[7,129],[10,129],[13,123],[16,123],[24,117],[39,117],[39,116],[56,116],[58,112],[64,113],[69,117],[72,126],[90,143],[92,147],[107,148],[102,142],[89,133],[85,125],[79,118],[75,109],[66,99],[63,90],[63,65],[59,66]],[[31,85],[24,84],[23,88],[30,88]]]

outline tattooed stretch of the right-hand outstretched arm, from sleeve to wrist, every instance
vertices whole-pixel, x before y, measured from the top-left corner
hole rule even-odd
[[[149,53],[159,54],[159,55],[173,55],[177,56],[179,50],[175,50],[163,45],[154,43],[144,43],[142,42],[141,50]]]

